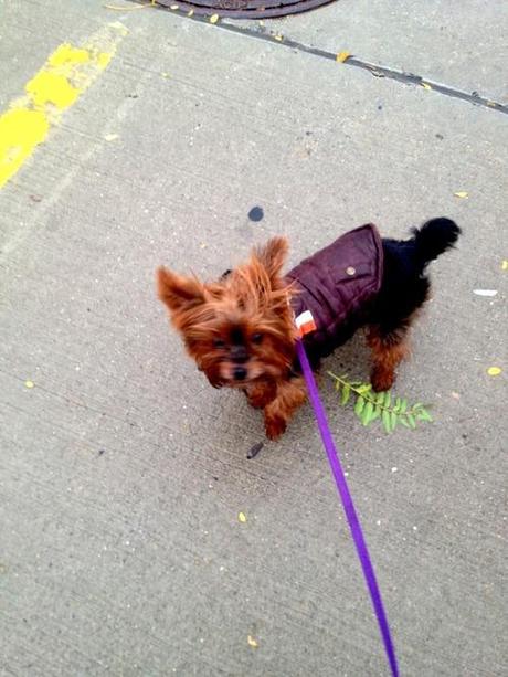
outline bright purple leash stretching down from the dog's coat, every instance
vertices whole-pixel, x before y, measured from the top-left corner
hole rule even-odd
[[[343,505],[346,517],[348,518],[349,528],[351,530],[352,540],[357,548],[358,557],[360,559],[363,575],[369,588],[370,597],[372,600],[372,606],[374,607],[375,616],[378,618],[379,630],[384,644],[384,650],[387,652],[388,662],[393,677],[399,677],[399,666],[396,664],[395,649],[393,647],[392,637],[390,634],[390,627],[388,625],[387,614],[384,613],[383,602],[381,600],[381,593],[379,591],[378,581],[375,580],[374,569],[370,560],[369,550],[367,549],[366,539],[361,530],[360,520],[358,519],[354,504],[352,503],[351,494],[349,493],[348,483],[340,465],[339,454],[337,452],[334,438],[328,427],[325,410],[322,408],[321,400],[319,399],[318,389],[314,379],[314,373],[310,368],[307,353],[305,352],[304,343],[301,340],[296,341],[296,352],[301,364],[305,382],[309,393],[309,400],[316,414],[316,421],[321,434],[322,444],[330,463],[331,473],[337,485],[337,489],[340,495],[340,499]]]

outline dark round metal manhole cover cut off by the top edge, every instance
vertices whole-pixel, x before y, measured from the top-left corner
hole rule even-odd
[[[194,10],[195,14],[219,14],[235,19],[263,19],[268,17],[285,17],[306,12],[334,0],[157,0],[157,4],[169,9],[183,11]]]

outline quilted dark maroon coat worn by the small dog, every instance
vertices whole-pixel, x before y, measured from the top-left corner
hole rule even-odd
[[[295,283],[295,317],[310,310],[316,330],[304,342],[309,358],[326,357],[363,324],[367,306],[383,275],[383,247],[369,223],[305,258],[286,277]]]

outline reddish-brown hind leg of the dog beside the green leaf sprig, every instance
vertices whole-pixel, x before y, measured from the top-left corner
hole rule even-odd
[[[390,390],[395,382],[395,369],[410,353],[408,329],[409,322],[389,331],[380,325],[369,327],[367,343],[373,360],[370,381],[375,392]]]

